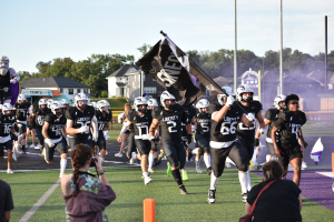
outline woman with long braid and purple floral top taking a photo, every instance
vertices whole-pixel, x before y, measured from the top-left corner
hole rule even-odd
[[[61,178],[61,191],[68,221],[99,222],[108,220],[105,209],[116,199],[116,194],[105,175],[99,157],[96,162],[99,179],[87,173],[90,162],[94,161],[92,158],[89,145],[76,145],[71,152],[73,174],[65,174]]]

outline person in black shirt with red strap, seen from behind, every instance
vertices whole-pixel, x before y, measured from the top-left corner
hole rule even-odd
[[[298,186],[289,180],[282,180],[283,169],[277,161],[263,165],[264,181],[255,185],[247,195],[246,212],[256,200],[259,191],[271,181],[276,180],[258,198],[253,212],[253,221],[289,222],[302,221],[302,198]]]

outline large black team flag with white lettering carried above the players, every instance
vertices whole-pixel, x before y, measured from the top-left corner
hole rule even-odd
[[[225,93],[188,56],[167,36],[136,62],[149,77],[157,80],[176,98],[177,103],[189,107],[205,92]]]

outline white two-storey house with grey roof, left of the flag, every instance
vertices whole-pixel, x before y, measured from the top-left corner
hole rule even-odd
[[[137,65],[124,65],[107,77],[108,80],[108,98],[111,97],[129,97],[128,73],[138,71]]]

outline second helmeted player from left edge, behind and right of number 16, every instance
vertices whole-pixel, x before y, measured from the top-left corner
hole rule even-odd
[[[19,94],[18,102],[14,104],[13,109],[16,110],[17,114],[17,124],[19,127],[19,138],[18,138],[18,147],[22,148],[22,151],[26,153],[26,125],[27,125],[27,118],[28,111],[31,103],[27,101],[24,94]]]

